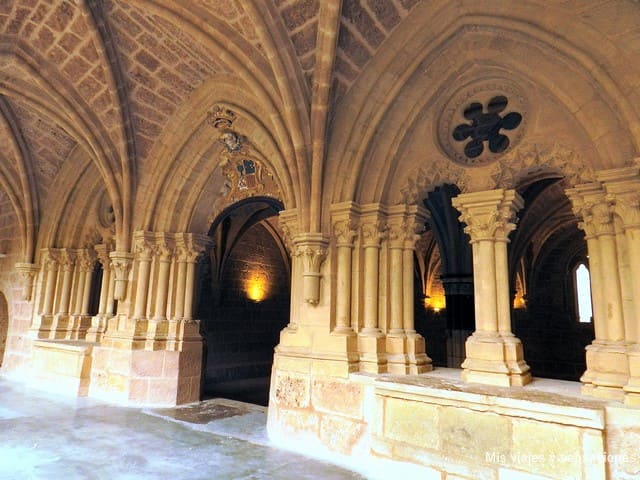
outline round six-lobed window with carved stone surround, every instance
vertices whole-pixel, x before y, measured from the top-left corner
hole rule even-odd
[[[455,163],[483,166],[511,151],[524,135],[527,102],[511,82],[489,81],[456,92],[438,119],[438,140]]]

